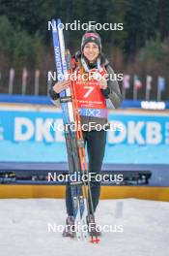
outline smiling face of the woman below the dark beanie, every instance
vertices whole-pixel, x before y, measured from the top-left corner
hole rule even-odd
[[[97,44],[89,42],[85,45],[83,53],[89,62],[94,62],[99,56],[99,47]]]

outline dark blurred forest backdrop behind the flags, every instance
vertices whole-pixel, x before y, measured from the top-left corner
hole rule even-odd
[[[0,0],[0,91],[1,93],[46,95],[48,70],[54,70],[51,31],[47,22],[61,17],[63,23],[94,20],[103,23],[123,23],[122,31],[98,31],[103,51],[116,73],[129,75],[127,99],[133,98],[134,75],[142,82],[139,99],[146,97],[146,80],[151,76],[150,99],[157,99],[158,77],[164,79],[162,100],[167,100],[169,88],[169,3],[167,0]],[[65,33],[71,53],[80,48],[83,30]],[[25,69],[26,70],[25,70]],[[11,70],[13,69],[13,70]],[[24,69],[24,75],[23,75]],[[36,73],[37,71],[37,73]],[[22,77],[27,77],[22,89]],[[9,88],[9,82],[13,88]],[[35,77],[41,86],[35,90]],[[121,84],[122,86],[122,84]]]

